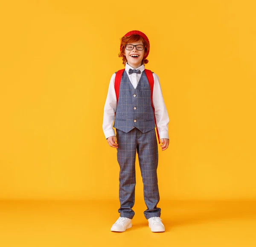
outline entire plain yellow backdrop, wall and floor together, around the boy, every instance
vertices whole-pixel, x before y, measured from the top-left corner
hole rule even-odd
[[[2,0],[0,245],[256,246],[255,9],[253,0]],[[170,118],[169,148],[159,146],[162,235],[143,216],[138,159],[133,227],[110,231],[119,165],[103,108],[124,68],[120,38],[134,29],[150,40],[146,68]]]

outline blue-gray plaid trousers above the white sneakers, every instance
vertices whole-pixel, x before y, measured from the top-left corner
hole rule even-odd
[[[155,129],[142,133],[137,128],[128,133],[116,129],[117,161],[119,173],[120,217],[134,217],[135,201],[135,158],[138,153],[141,176],[143,179],[144,201],[147,209],[146,219],[160,217],[161,209],[157,207],[160,200],[157,180],[158,149]]]

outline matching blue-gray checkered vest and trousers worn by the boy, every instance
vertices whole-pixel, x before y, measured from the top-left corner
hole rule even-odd
[[[134,121],[136,120],[136,121]],[[158,149],[155,133],[154,112],[151,107],[151,90],[145,71],[142,72],[136,89],[131,84],[126,71],[122,75],[119,100],[114,122],[116,128],[117,161],[119,173],[118,212],[121,217],[134,217],[135,199],[135,159],[138,153],[143,179],[146,219],[160,217],[157,207],[160,200],[157,184]]]

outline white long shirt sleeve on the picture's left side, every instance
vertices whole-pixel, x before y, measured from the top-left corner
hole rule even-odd
[[[116,112],[116,92],[114,87],[116,74],[114,73],[110,79],[107,99],[104,106],[104,114],[103,114],[103,132],[108,139],[109,136],[115,136],[115,131],[113,129],[113,122],[115,119]]]

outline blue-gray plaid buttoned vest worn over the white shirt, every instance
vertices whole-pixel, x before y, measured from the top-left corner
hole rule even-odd
[[[143,133],[155,128],[151,90],[145,71],[142,72],[136,89],[126,71],[122,74],[114,128],[126,133],[133,128]]]

